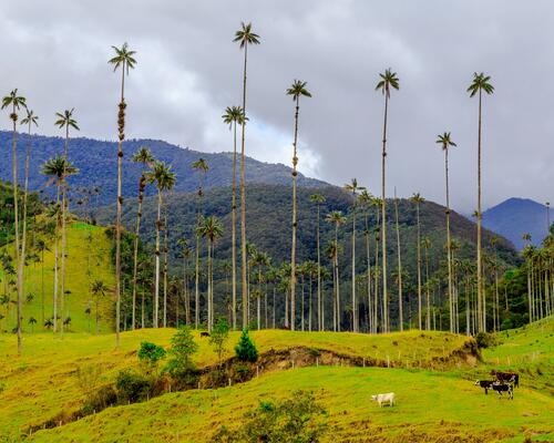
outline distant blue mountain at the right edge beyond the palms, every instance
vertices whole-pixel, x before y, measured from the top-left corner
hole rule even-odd
[[[509,198],[483,213],[483,225],[511,240],[517,249],[525,246],[524,234],[531,234],[533,245],[540,246],[548,231],[546,206],[529,198]]]

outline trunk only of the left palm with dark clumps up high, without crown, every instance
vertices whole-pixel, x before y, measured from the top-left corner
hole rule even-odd
[[[117,208],[115,217],[115,347],[120,348],[120,322],[121,322],[121,214],[123,205],[122,179],[123,179],[123,140],[125,138],[125,65],[121,66],[121,102],[117,113]],[[160,262],[157,264],[160,267]],[[160,277],[160,276],[158,276]],[[158,288],[160,289],[160,288]],[[157,297],[157,293],[156,293]],[[156,308],[157,315],[157,308]],[[155,319],[157,327],[157,317]]]

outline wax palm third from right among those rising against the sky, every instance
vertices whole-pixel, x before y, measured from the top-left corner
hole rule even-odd
[[[399,89],[399,80],[396,72],[390,69],[384,73],[379,74],[380,80],[376,85],[376,91],[381,91],[384,96],[384,114],[383,114],[383,130],[382,130],[382,159],[381,159],[381,241],[382,241],[382,298],[383,298],[383,331],[388,332],[389,324],[389,296],[387,292],[387,219],[386,219],[386,179],[384,179],[384,163],[387,157],[387,113],[389,107],[389,99],[391,90]]]

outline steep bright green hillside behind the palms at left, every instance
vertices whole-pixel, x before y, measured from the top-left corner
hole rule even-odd
[[[109,288],[114,286],[114,271],[110,260],[111,240],[105,233],[105,228],[79,222],[74,222],[68,227],[65,311],[60,312],[59,316],[60,318],[71,317],[70,331],[93,331],[95,328],[95,308],[91,300],[90,282],[100,279]],[[34,235],[32,231],[29,235],[30,255],[33,254],[33,244],[39,238],[43,238],[49,245],[49,250],[44,251],[44,261],[42,261],[42,254],[34,250],[37,259],[29,259],[24,271],[23,330],[38,332],[44,329],[43,319],[51,318],[53,315],[54,245],[53,238],[50,236]],[[10,247],[8,253],[10,253]],[[11,331],[16,327],[16,288],[12,285],[7,285],[8,280],[14,278],[16,276],[7,278],[0,269],[0,279],[3,282],[2,293],[8,293],[12,300],[0,307],[4,316],[4,319],[0,320],[2,331]],[[91,307],[91,313],[86,315],[85,309],[89,307]],[[28,323],[31,317],[38,320],[34,327]],[[106,295],[101,300],[100,317],[102,332],[112,331],[113,302],[111,295]]]

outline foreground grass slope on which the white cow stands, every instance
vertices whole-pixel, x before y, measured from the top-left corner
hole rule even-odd
[[[259,399],[283,398],[297,389],[317,392],[328,412],[328,442],[522,441],[525,433],[554,437],[552,399],[526,388],[517,390],[513,402],[499,401],[468,381],[440,373],[311,367],[270,373],[243,385],[111,408],[40,431],[31,441],[209,442],[214,431],[222,424],[234,427]],[[398,406],[379,409],[370,401],[372,393],[390,391],[397,393]]]

